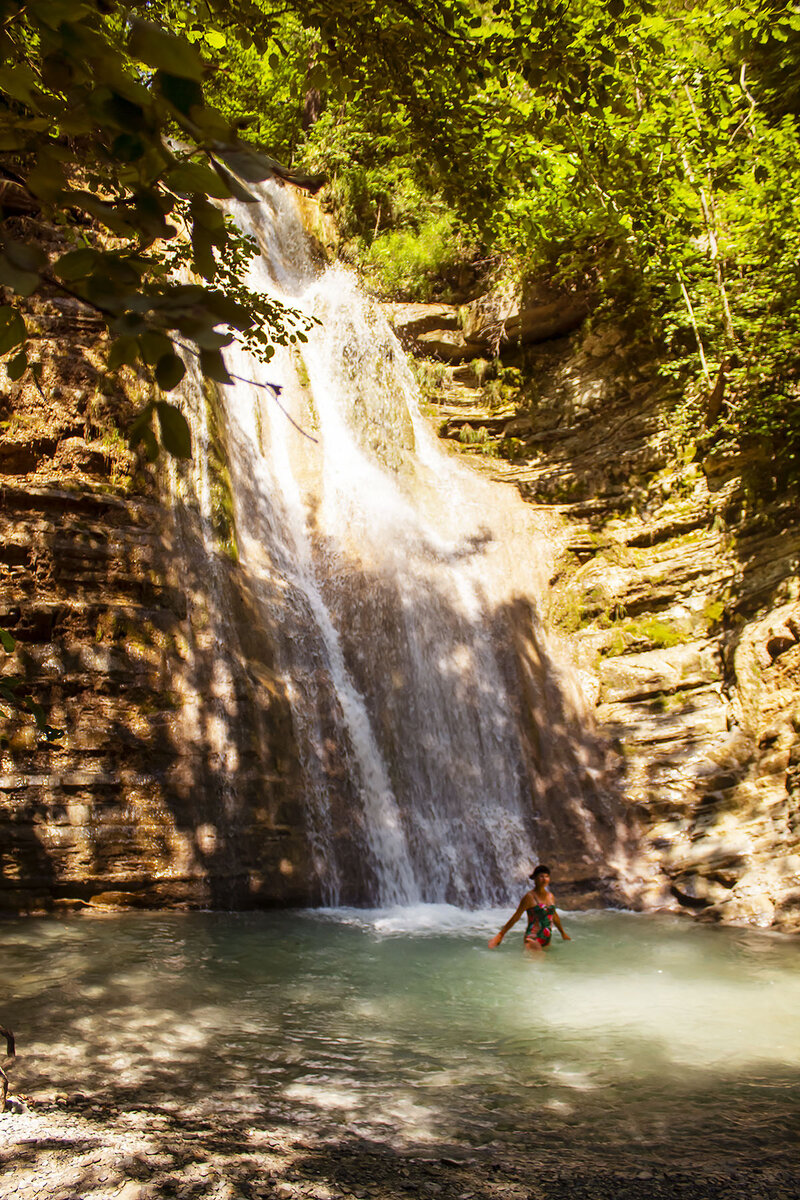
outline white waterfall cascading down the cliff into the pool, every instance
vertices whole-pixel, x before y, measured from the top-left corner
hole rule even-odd
[[[231,346],[219,389],[240,563],[281,630],[318,894],[506,902],[553,844],[542,822],[567,822],[573,857],[597,853],[576,800],[589,758],[552,672],[533,706],[519,695],[515,622],[541,655],[546,534],[437,444],[379,307],[315,266],[293,190],[267,186],[235,216],[261,248],[251,286],[318,322],[269,365]]]

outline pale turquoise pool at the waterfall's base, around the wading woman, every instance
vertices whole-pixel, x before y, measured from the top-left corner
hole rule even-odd
[[[137,913],[0,924],[14,1090],[347,1129],[398,1147],[796,1136],[800,941],[566,913]]]

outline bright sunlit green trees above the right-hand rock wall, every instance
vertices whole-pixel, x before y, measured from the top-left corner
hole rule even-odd
[[[800,476],[798,4],[495,0],[427,28],[401,7],[361,0],[335,31],[297,6],[326,107],[296,152],[330,168],[349,257],[432,294],[444,203],[485,266],[625,313],[693,396],[680,437],[765,439]]]

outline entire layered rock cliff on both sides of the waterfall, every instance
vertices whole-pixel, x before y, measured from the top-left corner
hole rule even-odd
[[[572,298],[390,317],[439,433],[552,517],[546,616],[634,833],[594,880],[564,854],[576,900],[800,928],[800,526],[769,462],[676,456],[651,364]],[[109,383],[72,301],[35,320],[43,378],[0,413],[2,671],[64,734],[5,726],[0,907],[318,902],[279,631],[237,560],[212,397],[210,547],[170,500],[186,468],[120,436],[143,382]]]

